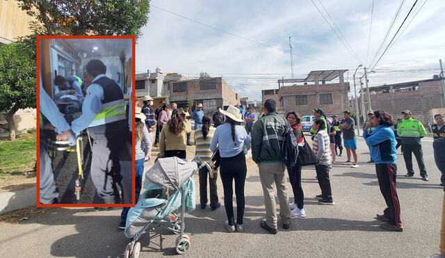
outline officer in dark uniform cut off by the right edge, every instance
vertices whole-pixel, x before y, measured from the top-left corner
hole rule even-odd
[[[434,161],[437,168],[442,172],[440,177],[441,186],[445,186],[445,120],[442,114],[434,115],[435,124],[431,125],[432,150],[434,150]]]

